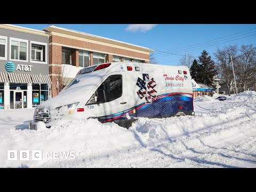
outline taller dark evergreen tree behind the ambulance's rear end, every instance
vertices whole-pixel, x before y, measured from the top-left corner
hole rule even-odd
[[[215,69],[215,63],[211,59],[211,56],[208,56],[205,50],[201,53],[201,56],[198,58],[199,63],[199,73],[197,74],[197,81],[199,83],[204,83],[206,85],[212,86],[213,77],[217,75],[217,70]]]

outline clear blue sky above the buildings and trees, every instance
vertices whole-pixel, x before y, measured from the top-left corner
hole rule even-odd
[[[13,24],[33,29],[56,25],[93,35],[145,46],[155,52],[162,65],[179,65],[181,55],[189,53],[198,59],[205,49],[212,57],[218,47],[256,44],[256,25],[250,24]],[[244,32],[243,32],[244,31]],[[235,34],[235,35],[233,35]],[[228,37],[225,37],[228,36]],[[224,38],[222,38],[224,37]],[[216,39],[216,40],[214,40]],[[212,41],[214,40],[214,41]],[[209,42],[207,42],[209,41]],[[205,42],[205,43],[204,43]],[[201,44],[200,44],[201,43]],[[198,45],[195,45],[198,44]],[[182,48],[185,47],[185,48]],[[181,49],[182,48],[182,49]],[[178,49],[178,50],[177,50]],[[162,53],[169,52],[169,53]],[[172,53],[172,54],[171,54]],[[178,54],[178,55],[177,55]]]

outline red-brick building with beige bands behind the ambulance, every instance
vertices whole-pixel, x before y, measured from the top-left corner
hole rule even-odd
[[[57,26],[49,26],[49,75],[52,97],[83,67],[105,62],[149,62],[147,47],[116,41]]]

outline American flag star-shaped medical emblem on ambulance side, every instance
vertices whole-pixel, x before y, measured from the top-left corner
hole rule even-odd
[[[154,78],[151,78],[149,80],[148,74],[142,74],[143,80],[138,77],[136,85],[140,87],[140,89],[137,91],[138,96],[140,99],[143,99],[145,97],[146,103],[151,103],[152,99],[156,99],[156,93],[157,91],[154,89],[156,86],[156,82],[154,81]]]

